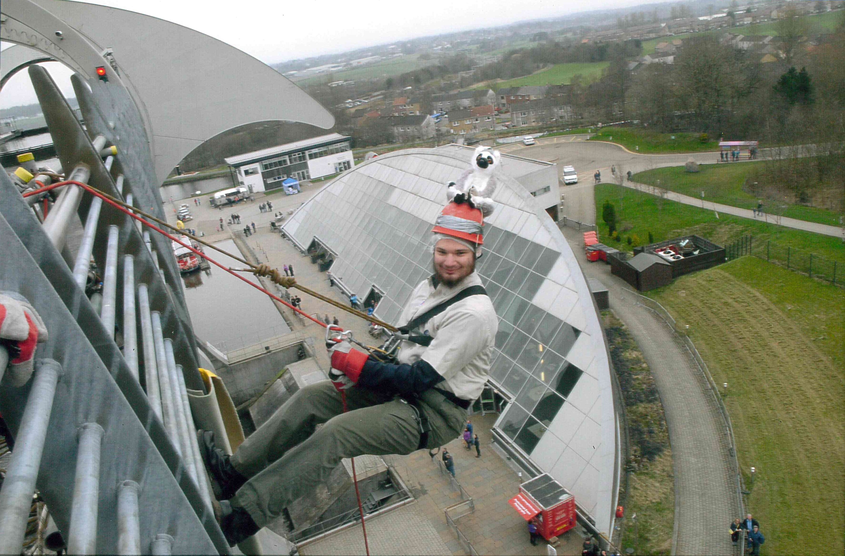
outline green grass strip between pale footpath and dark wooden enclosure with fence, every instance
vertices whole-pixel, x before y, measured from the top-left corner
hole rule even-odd
[[[606,240],[611,247],[620,250],[630,252],[637,243],[629,245],[625,241],[608,239],[608,226],[602,221],[602,205],[606,199],[610,200],[616,210],[619,235],[637,236],[640,245],[649,243],[648,232],[652,233],[655,242],[696,234],[719,245],[726,245],[740,237],[751,235],[755,244],[765,244],[766,240],[771,240],[784,248],[788,246],[804,253],[821,255],[838,261],[840,265],[845,263],[845,243],[838,237],[793,230],[733,215],[719,214],[717,218],[712,210],[702,210],[690,204],[661,199],[613,183],[602,183],[596,186],[599,237],[602,241]],[[843,271],[845,270],[839,270]]]

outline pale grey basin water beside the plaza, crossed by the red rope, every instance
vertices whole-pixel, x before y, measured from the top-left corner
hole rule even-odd
[[[215,243],[215,247],[240,254],[231,239]],[[207,249],[207,252],[226,267],[243,267],[243,263],[213,249]],[[254,275],[242,275],[248,281],[259,283]],[[222,352],[252,346],[291,331],[270,297],[220,267],[212,264],[211,270],[183,275],[183,281],[194,331],[200,339]]]

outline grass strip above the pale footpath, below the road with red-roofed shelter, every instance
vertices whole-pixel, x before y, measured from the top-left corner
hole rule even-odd
[[[686,172],[684,166],[656,168],[634,175],[635,182],[657,185],[660,187],[690,197],[700,198],[704,191],[705,201],[729,204],[743,209],[755,209],[758,197],[743,191],[745,179],[763,162],[743,162],[742,164],[705,164],[699,166],[700,172]],[[768,208],[773,201],[764,199],[763,207],[766,212],[776,212]],[[819,222],[829,226],[839,226],[839,214],[833,210],[825,210],[803,204],[789,204],[782,212],[783,216],[797,218],[809,222]]]

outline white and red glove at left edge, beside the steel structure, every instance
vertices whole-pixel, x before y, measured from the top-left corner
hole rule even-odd
[[[3,382],[23,386],[32,376],[35,345],[47,340],[41,316],[26,298],[16,292],[0,292],[0,345],[8,352],[8,369]]]

